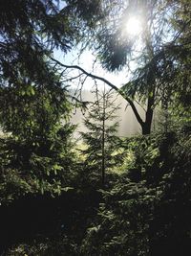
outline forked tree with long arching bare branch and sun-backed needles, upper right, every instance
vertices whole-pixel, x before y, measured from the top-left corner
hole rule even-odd
[[[185,8],[188,13],[190,10],[188,1],[101,3],[102,15],[94,29],[85,27],[84,40],[94,49],[102,66],[109,71],[128,67],[132,60],[136,62],[137,68],[133,72],[132,79],[124,82],[121,88],[104,78],[86,72],[79,66],[65,65],[55,59],[54,61],[64,68],[78,69],[81,75],[103,81],[115,89],[132,107],[142,134],[149,134],[156,105],[160,105],[162,99],[166,97],[170,102],[178,91],[174,81],[180,65],[178,59],[182,53],[179,40],[186,31],[189,31],[190,22],[187,16],[181,25],[174,26],[174,16],[182,20],[179,10],[183,12]],[[133,37],[125,34],[124,31],[124,24],[132,15],[137,16],[142,24],[140,35]],[[189,44],[188,41],[187,43]],[[188,89],[186,92],[188,95]],[[135,100],[144,105],[144,118],[138,113]]]

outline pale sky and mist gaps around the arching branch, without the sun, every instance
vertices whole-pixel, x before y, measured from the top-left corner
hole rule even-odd
[[[84,68],[86,71],[91,72],[92,71],[92,66],[95,57],[90,51],[85,51],[79,59],[76,59],[78,54],[78,51],[72,51],[68,55],[63,54],[60,51],[54,52],[54,58],[57,58],[60,62],[65,63],[65,64],[77,64]],[[121,72],[118,72],[116,74],[114,73],[109,73],[106,72],[103,68],[101,68],[100,65],[96,65],[96,68],[93,72],[97,76],[103,77],[107,79],[108,81],[111,81],[113,84],[115,84],[117,87],[120,87],[124,82],[128,81],[128,72],[123,70]],[[74,76],[76,73],[74,73]],[[74,81],[73,85],[71,88],[76,89],[77,81]],[[103,83],[99,82],[97,83],[98,88],[101,90],[103,88]],[[91,79],[87,79],[83,86],[83,91],[82,91],[82,100],[83,101],[94,101],[94,95],[91,93],[91,89],[94,86],[94,82]],[[108,88],[110,88],[108,86]],[[131,134],[136,134],[140,133],[140,127],[138,125],[138,122],[136,120],[136,117],[131,109],[130,106],[127,107],[127,102],[118,95],[117,97],[117,105],[120,105],[120,109],[117,111],[117,121],[119,122],[119,129],[118,129],[118,135],[119,136],[128,136]],[[140,106],[138,106],[138,112],[140,112],[141,115],[144,115],[143,110],[141,109]],[[80,108],[75,109],[74,113],[72,115],[71,122],[74,125],[77,125],[77,128],[75,130],[74,136],[75,138],[79,137],[79,131],[81,130],[86,130],[86,128],[83,125],[83,119],[84,117],[88,114],[88,112],[84,113],[81,112]]]

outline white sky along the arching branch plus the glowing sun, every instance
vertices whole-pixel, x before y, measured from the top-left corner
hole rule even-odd
[[[124,28],[123,28],[123,35],[122,36],[130,36],[134,37],[141,33],[141,23],[139,20],[139,17],[132,16],[128,20],[124,22]],[[139,44],[138,44],[139,45]],[[138,46],[138,48],[141,48]],[[126,69],[123,69],[120,72],[107,72],[104,70],[100,63],[96,61],[96,64],[94,65],[93,70],[93,64],[95,62],[96,57],[93,55],[91,51],[84,51],[83,54],[81,54],[80,58],[78,57],[78,54],[80,52],[80,49],[73,50],[67,55],[62,53],[61,51],[55,51],[54,52],[54,58],[57,58],[60,62],[67,64],[67,65],[79,65],[83,69],[85,69],[87,72],[90,72],[96,76],[102,77],[113,84],[115,84],[117,87],[120,87],[122,84],[126,83],[130,79],[130,71]],[[135,68],[135,63],[131,63],[130,65],[131,69]],[[77,76],[79,73],[75,70],[74,76]],[[91,89],[93,86],[93,81],[91,79],[87,79],[87,81],[84,83],[83,88],[84,89]],[[102,86],[103,83],[100,81],[97,83],[99,86]],[[77,86],[77,81],[73,81],[71,84],[72,87]]]

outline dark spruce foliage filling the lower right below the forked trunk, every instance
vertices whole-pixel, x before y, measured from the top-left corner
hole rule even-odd
[[[127,170],[113,188],[102,191],[103,202],[96,221],[87,230],[82,252],[189,255],[190,132],[180,130],[132,141],[129,147],[132,143],[134,150],[140,147],[135,168]],[[142,175],[136,179],[132,172],[138,172],[138,168]]]

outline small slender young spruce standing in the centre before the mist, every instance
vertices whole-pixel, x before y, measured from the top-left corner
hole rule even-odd
[[[87,149],[85,154],[85,165],[90,168],[91,173],[101,174],[102,186],[105,185],[106,172],[122,162],[122,153],[117,151],[119,138],[117,137],[118,122],[111,122],[117,118],[115,112],[118,105],[115,105],[114,93],[107,91],[96,91],[96,103],[90,108],[89,114],[84,120],[88,132],[80,132]]]

